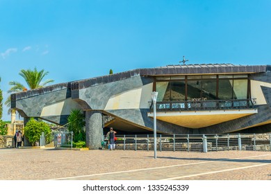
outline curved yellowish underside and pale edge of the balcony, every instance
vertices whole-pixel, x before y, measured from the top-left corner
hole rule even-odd
[[[156,119],[188,128],[202,128],[258,113],[258,109],[156,112]],[[148,112],[154,117],[153,112]]]

